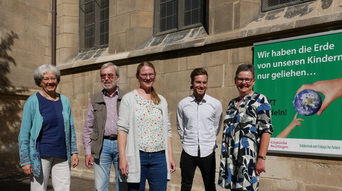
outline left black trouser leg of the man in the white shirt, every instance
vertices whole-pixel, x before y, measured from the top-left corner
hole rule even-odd
[[[184,150],[181,154],[181,191],[189,191],[192,187],[193,176],[196,171],[196,162],[198,157],[190,156]]]

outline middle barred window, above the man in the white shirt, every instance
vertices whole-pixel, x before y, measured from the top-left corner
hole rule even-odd
[[[154,36],[204,25],[205,0],[155,0]]]

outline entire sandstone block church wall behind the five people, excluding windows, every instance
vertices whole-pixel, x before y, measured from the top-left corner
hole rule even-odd
[[[138,63],[147,60],[156,66],[155,88],[168,101],[178,166],[168,190],[179,190],[182,148],[176,108],[192,92],[189,75],[193,68],[207,69],[207,93],[220,100],[225,110],[238,95],[235,69],[252,62],[254,42],[342,28],[339,0],[316,0],[268,12],[261,12],[261,0],[208,0],[204,27],[153,37],[153,2],[109,0],[109,47],[79,53],[79,0],[57,0],[57,66],[62,70],[58,92],[71,101],[80,157],[73,176],[93,178],[93,170],[84,165],[82,128],[90,94],[102,89],[99,68],[103,63],[119,66],[118,85],[127,91],[138,87]],[[40,90],[33,82],[33,70],[51,62],[51,7],[51,1],[45,0],[0,0],[0,122],[4,124],[0,128],[4,132],[0,175],[20,172],[17,134],[22,106]],[[218,145],[221,136],[222,132]],[[268,155],[260,190],[342,190],[341,158]],[[218,163],[216,150],[216,172]],[[199,171],[192,190],[204,190]]]

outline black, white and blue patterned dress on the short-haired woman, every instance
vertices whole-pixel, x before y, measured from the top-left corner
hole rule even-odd
[[[230,101],[224,119],[218,186],[236,190],[258,190],[255,164],[262,133],[272,133],[271,105],[259,93]]]

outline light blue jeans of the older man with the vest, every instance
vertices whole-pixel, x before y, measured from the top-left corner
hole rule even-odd
[[[126,183],[119,182],[118,155],[117,140],[103,139],[100,159],[94,159],[94,181],[96,191],[108,190],[112,163],[115,170],[116,191],[127,190]]]

